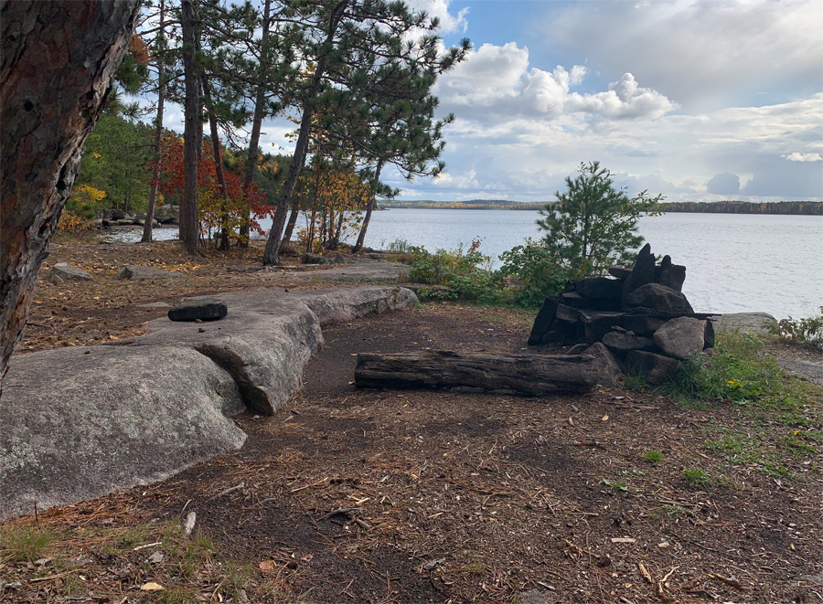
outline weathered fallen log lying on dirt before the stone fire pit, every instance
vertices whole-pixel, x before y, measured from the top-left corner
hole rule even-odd
[[[477,388],[539,397],[614,387],[620,369],[603,344],[583,355],[487,355],[422,351],[392,355],[360,354],[358,388]]]

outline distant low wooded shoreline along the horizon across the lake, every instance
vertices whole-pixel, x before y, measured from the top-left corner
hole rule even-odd
[[[502,199],[461,201],[385,201],[380,209],[433,209],[433,210],[531,210],[537,211],[554,202],[524,202]],[[777,216],[823,216],[821,201],[780,201],[754,203],[748,201],[695,202],[679,201],[660,205],[664,212],[689,214],[769,214]]]

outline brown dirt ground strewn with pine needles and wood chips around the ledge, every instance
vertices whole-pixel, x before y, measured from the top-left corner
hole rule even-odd
[[[128,263],[171,268],[175,244],[156,246]],[[102,277],[38,286],[32,321],[49,327],[26,349],[138,333],[165,313],[142,303],[317,286],[228,270],[254,250],[198,265],[181,254],[178,270],[194,268],[175,284],[123,283],[103,273],[124,252],[54,249],[50,262]],[[819,437],[816,387],[788,416],[622,387],[528,398],[351,384],[359,352],[517,352],[532,320],[444,303],[326,328],[303,393],[273,418],[237,419],[242,450],[3,525],[0,602],[508,604],[532,589],[552,603],[823,601],[823,460],[796,438]]]

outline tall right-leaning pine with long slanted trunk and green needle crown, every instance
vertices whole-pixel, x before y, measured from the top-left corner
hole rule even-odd
[[[297,177],[305,164],[312,119],[324,116],[329,132],[341,133],[335,123],[354,123],[358,111],[366,111],[364,122],[371,122],[374,109],[369,100],[401,97],[396,73],[403,66],[419,61],[418,69],[431,66],[433,72],[450,69],[467,48],[438,52],[439,38],[416,35],[433,32],[438,26],[423,12],[416,12],[402,2],[384,0],[291,0],[283,3],[294,20],[285,39],[300,50],[303,69],[311,65],[311,78],[298,81],[288,101],[300,115],[300,127],[289,174],[277,203],[272,230],[266,241],[264,264],[280,261],[281,236]],[[425,48],[422,48],[424,45]],[[369,90],[368,93],[363,90]],[[343,116],[346,116],[343,118]],[[341,119],[342,118],[342,119]],[[359,131],[358,132],[362,132]],[[345,132],[353,137],[354,132]],[[370,137],[358,145],[369,146]]]

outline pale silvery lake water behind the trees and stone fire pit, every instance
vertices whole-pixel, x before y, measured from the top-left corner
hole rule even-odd
[[[497,259],[540,237],[538,217],[527,210],[392,209],[372,215],[366,244],[386,248],[404,239],[432,251],[480,238],[480,250]],[[155,232],[176,237],[176,229]],[[683,293],[698,312],[797,318],[823,304],[823,217],[671,213],[641,218],[639,232],[655,254],[686,266]]]

